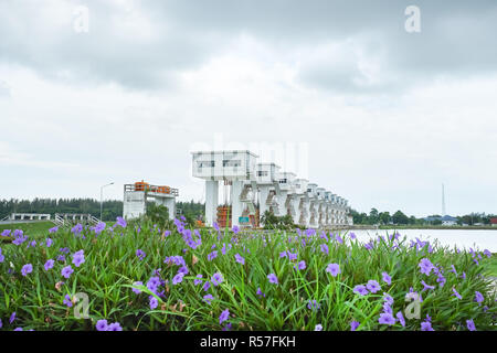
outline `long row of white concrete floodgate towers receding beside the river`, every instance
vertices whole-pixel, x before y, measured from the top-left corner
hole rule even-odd
[[[257,158],[247,150],[192,152],[192,175],[205,180],[205,225],[257,227],[266,211],[302,227],[352,225],[347,200]]]

